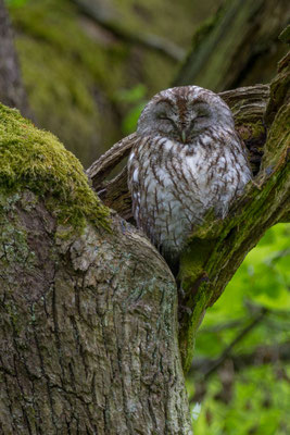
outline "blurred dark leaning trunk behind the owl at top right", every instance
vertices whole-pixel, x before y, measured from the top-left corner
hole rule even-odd
[[[287,0],[226,0],[194,34],[174,86],[222,91],[268,83],[287,52],[278,36],[288,23]]]

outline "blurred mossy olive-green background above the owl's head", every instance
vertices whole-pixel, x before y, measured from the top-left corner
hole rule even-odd
[[[5,0],[36,124],[88,167],[143,103],[187,83],[268,83],[288,0]]]

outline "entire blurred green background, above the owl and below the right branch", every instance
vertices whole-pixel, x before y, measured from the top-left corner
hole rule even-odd
[[[35,123],[88,167],[148,99],[268,83],[285,0],[7,0]],[[268,231],[207,310],[187,376],[196,435],[290,434],[290,225]]]

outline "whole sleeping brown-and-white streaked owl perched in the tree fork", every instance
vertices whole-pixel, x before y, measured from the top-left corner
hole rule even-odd
[[[137,226],[166,259],[178,258],[210,209],[224,217],[250,179],[231,111],[216,94],[182,86],[146,105],[128,160],[128,187]]]

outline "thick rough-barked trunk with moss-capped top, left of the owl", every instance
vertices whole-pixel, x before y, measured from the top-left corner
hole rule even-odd
[[[0,432],[191,434],[163,258],[1,104],[0,159]]]

